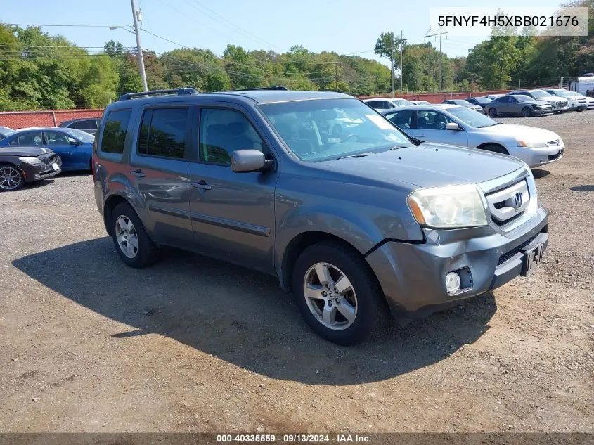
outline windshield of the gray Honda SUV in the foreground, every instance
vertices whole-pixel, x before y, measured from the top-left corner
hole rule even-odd
[[[304,161],[413,146],[385,117],[354,98],[269,103],[260,109],[292,153]]]

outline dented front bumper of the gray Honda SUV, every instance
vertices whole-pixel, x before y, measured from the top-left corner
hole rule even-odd
[[[366,259],[394,314],[425,315],[519,276],[523,251],[537,243],[546,248],[547,232],[548,214],[539,207],[531,219],[509,233],[491,226],[425,231],[425,243],[389,241]],[[446,273],[465,268],[470,270],[470,288],[448,295]]]

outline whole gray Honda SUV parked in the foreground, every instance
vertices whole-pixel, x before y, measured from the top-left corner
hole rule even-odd
[[[526,276],[548,244],[524,162],[418,141],[340,93],[127,94],[97,134],[125,264],[169,245],[269,273],[338,344]]]

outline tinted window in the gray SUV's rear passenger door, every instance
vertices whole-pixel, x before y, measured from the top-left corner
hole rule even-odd
[[[138,153],[183,159],[186,153],[188,108],[155,108],[142,117]]]

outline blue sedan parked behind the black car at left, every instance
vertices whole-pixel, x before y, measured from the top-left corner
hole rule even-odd
[[[15,131],[0,141],[2,148],[43,147],[62,158],[62,171],[91,170],[91,154],[95,136],[77,129],[34,127]]]

